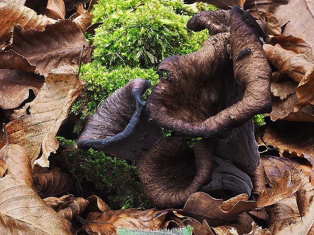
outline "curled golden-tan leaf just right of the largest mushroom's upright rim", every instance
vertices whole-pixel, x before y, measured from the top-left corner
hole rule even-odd
[[[300,82],[307,71],[314,67],[314,63],[304,54],[288,51],[280,44],[264,44],[263,49],[267,60],[281,73],[289,75],[294,81]]]

